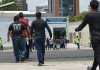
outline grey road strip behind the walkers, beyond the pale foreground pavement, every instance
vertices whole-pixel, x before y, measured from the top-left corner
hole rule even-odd
[[[34,50],[30,53],[30,58],[35,60],[37,59],[37,52]],[[63,59],[63,58],[93,58],[93,51],[89,47],[81,47],[81,49],[77,49],[77,47],[73,44],[68,44],[65,49],[57,49],[57,50],[46,50],[45,54],[46,59]],[[14,54],[13,50],[4,50],[0,51],[0,62],[14,62]]]

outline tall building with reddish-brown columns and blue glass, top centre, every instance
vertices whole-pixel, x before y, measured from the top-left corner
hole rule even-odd
[[[62,5],[62,3],[64,3],[63,1],[65,1],[66,7]],[[69,0],[49,0],[48,5],[49,5],[49,12],[53,16],[67,16],[68,14],[77,16],[80,14],[79,0],[72,0],[72,1],[71,0],[70,1]],[[72,6],[72,10],[69,10],[70,6]]]

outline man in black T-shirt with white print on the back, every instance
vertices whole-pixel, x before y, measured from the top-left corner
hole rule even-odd
[[[23,26],[19,23],[19,17],[15,16],[14,17],[14,22],[10,24],[8,28],[8,34],[7,34],[7,41],[10,41],[10,37],[13,42],[13,48],[14,48],[14,55],[16,58],[16,62],[22,61],[24,58],[24,50],[22,46],[25,46],[26,43],[22,39],[22,31],[23,31]]]

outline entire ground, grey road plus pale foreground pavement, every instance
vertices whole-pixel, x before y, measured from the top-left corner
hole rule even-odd
[[[0,51],[0,70],[87,70],[92,65],[93,51],[69,44],[67,49],[46,51],[45,65],[37,66],[36,51],[24,63],[14,63],[12,50]]]

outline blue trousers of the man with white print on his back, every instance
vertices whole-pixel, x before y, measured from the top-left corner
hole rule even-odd
[[[14,47],[14,55],[16,58],[16,61],[20,61],[25,56],[26,52],[26,41],[22,37],[13,37],[13,47]]]

